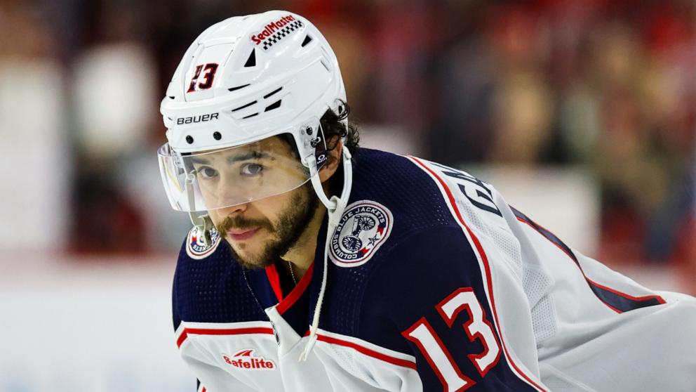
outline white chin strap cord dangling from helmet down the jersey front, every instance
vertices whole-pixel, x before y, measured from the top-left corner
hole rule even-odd
[[[338,226],[338,222],[343,215],[343,211],[348,203],[348,197],[350,196],[350,188],[352,185],[353,177],[353,166],[351,164],[351,155],[348,148],[343,146],[343,190],[341,192],[341,197],[333,196],[330,199],[326,197],[321,186],[321,181],[319,181],[319,176],[312,176],[312,185],[316,194],[319,196],[319,200],[326,206],[326,212],[328,214],[328,228],[326,231],[326,242],[324,243],[324,268],[323,276],[321,277],[321,289],[319,290],[319,298],[316,300],[316,306],[314,307],[314,315],[312,317],[312,325],[309,326],[309,340],[300,354],[300,362],[307,360],[309,353],[312,352],[314,344],[316,344],[316,330],[319,329],[319,315],[321,315],[321,303],[323,303],[324,293],[326,292],[326,273],[328,271],[328,252],[329,245],[331,242],[331,233]],[[316,161],[310,162],[314,166],[314,171],[316,172]]]

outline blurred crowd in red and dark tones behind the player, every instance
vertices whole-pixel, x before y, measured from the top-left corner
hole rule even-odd
[[[159,100],[205,27],[277,8],[326,35],[366,140],[582,167],[592,256],[684,268],[696,292],[693,0],[0,0],[0,249],[175,254]]]

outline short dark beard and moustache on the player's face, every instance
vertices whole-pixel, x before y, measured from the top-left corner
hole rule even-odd
[[[300,236],[307,229],[309,222],[314,217],[314,212],[319,206],[319,197],[316,197],[312,185],[306,183],[297,188],[292,199],[288,203],[285,211],[281,213],[278,221],[272,223],[268,219],[249,219],[243,216],[227,216],[222,222],[215,226],[217,233],[222,237],[226,236],[227,230],[231,228],[265,228],[269,233],[269,240],[262,244],[262,250],[258,254],[248,254],[242,256],[229,244],[229,251],[232,257],[244,268],[257,269],[271,266],[281,259],[290,248],[297,244]],[[238,244],[241,249],[246,244]]]

